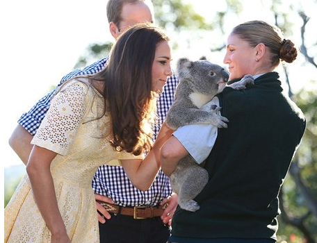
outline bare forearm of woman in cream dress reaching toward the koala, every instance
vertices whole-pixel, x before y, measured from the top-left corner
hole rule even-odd
[[[161,147],[172,135],[173,130],[164,123],[144,160],[121,160],[122,167],[129,177],[131,183],[139,190],[148,190],[161,167]]]

